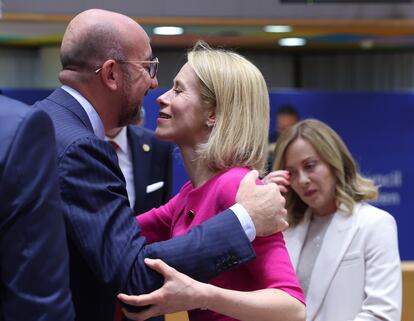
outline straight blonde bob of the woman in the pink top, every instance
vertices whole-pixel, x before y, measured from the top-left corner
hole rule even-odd
[[[239,54],[197,42],[188,63],[201,98],[213,106],[215,125],[198,152],[213,170],[246,166],[263,170],[269,131],[269,95],[256,66]]]

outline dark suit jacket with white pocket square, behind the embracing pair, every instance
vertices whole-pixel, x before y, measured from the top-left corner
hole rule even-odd
[[[173,145],[139,126],[128,126],[127,137],[134,171],[133,208],[136,214],[140,214],[165,204],[171,197]],[[158,182],[164,182],[164,186],[147,193],[147,186]]]

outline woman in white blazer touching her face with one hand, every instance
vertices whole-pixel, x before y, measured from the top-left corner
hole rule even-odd
[[[281,134],[274,155],[274,172],[264,180],[286,192],[284,236],[307,321],[400,320],[396,223],[365,202],[377,188],[357,173],[341,138],[320,121],[304,120]]]

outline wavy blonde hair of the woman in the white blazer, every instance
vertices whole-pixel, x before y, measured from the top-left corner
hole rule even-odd
[[[303,120],[286,129],[278,138],[273,159],[273,170],[285,168],[286,151],[296,139],[310,143],[321,159],[328,164],[336,180],[336,205],[345,206],[351,214],[356,202],[376,199],[378,188],[372,180],[357,172],[357,164],[338,134],[316,119]],[[286,195],[289,224],[297,225],[304,217],[307,205],[292,190]]]

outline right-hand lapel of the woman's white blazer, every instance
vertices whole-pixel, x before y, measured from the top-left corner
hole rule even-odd
[[[307,320],[315,318],[339,264],[358,230],[354,221],[355,215],[349,215],[342,210],[338,210],[332,218],[316,259],[306,296]]]

